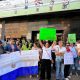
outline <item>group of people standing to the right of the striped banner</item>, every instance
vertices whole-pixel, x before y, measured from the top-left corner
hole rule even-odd
[[[50,46],[48,42],[44,45],[40,41],[43,50],[40,80],[45,80],[45,72],[47,73],[47,79],[51,80],[51,62],[56,72],[56,80],[69,80],[73,74],[73,67],[76,76],[78,76],[78,66],[80,64],[79,44],[78,42],[64,45],[63,41],[59,41],[58,44],[54,41]]]

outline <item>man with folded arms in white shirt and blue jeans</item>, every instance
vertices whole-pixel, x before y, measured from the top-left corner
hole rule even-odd
[[[59,41],[58,46],[56,46],[56,80],[64,80],[64,53],[66,48],[63,46],[63,42]]]

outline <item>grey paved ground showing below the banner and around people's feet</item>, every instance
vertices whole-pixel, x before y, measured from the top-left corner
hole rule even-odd
[[[39,80],[39,78],[36,78],[36,76],[30,78],[29,76],[24,76],[24,77],[19,77],[16,80]],[[55,79],[55,73],[52,73],[52,79],[51,80],[56,80]],[[76,76],[74,73],[71,77],[70,80],[80,80],[80,72],[79,72],[79,76]]]

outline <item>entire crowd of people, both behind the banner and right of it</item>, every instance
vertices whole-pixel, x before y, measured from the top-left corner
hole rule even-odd
[[[51,80],[52,70],[56,73],[56,80],[69,80],[73,68],[78,76],[80,66],[80,41],[66,43],[63,41],[37,41],[32,43],[25,38],[0,41],[0,54],[21,50],[39,50],[40,80]],[[71,61],[70,61],[71,60]],[[51,65],[52,68],[51,69]]]

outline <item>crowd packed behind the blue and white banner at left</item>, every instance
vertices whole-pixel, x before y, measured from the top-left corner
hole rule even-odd
[[[32,43],[26,38],[22,39],[8,39],[6,41],[0,40],[0,54],[10,53],[21,50],[30,50]]]

